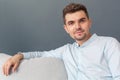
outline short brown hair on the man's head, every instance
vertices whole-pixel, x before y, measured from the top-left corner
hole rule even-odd
[[[65,15],[67,13],[74,13],[77,11],[83,10],[86,13],[86,16],[89,18],[87,8],[83,4],[70,3],[63,9],[63,19],[65,24]]]

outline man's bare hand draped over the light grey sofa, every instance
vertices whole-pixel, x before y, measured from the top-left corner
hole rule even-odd
[[[8,76],[10,73],[10,69],[12,70],[12,72],[15,72],[22,59],[22,54],[16,54],[13,57],[9,58],[3,65],[3,74]]]

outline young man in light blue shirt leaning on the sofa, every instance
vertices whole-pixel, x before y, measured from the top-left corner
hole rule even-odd
[[[112,37],[91,34],[91,20],[83,4],[71,3],[63,10],[64,29],[75,40],[60,48],[25,52],[11,57],[3,73],[15,71],[22,59],[56,57],[62,59],[68,80],[120,80],[120,44]]]

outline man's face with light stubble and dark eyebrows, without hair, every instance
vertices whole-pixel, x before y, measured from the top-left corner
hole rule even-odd
[[[65,16],[64,28],[76,41],[86,41],[90,37],[90,26],[91,20],[82,10]]]

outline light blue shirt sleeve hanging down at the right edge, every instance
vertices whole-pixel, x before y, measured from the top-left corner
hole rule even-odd
[[[113,80],[120,80],[120,43],[113,38],[106,47],[105,53]]]

